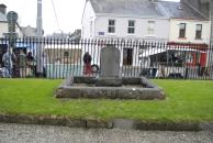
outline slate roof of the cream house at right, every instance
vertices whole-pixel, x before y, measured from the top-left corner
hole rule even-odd
[[[164,14],[173,19],[188,19],[188,20],[206,20],[199,12],[190,8],[187,3],[159,1],[159,7],[162,7]]]

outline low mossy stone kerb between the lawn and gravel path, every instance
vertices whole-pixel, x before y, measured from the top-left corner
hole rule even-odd
[[[156,131],[211,131],[213,132],[213,122],[146,122],[128,119],[87,120],[71,119],[57,116],[26,116],[26,114],[0,114],[2,123],[22,123],[41,125],[61,125],[69,128],[85,129],[125,129],[125,130],[156,130]]]

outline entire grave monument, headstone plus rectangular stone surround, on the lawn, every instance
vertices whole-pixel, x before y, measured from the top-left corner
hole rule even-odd
[[[101,50],[99,77],[67,78],[56,90],[57,98],[107,98],[107,99],[165,99],[162,89],[144,77],[121,77],[121,53],[108,45]]]

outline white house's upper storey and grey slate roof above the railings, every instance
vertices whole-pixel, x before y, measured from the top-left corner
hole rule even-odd
[[[168,40],[168,28],[158,3],[148,0],[87,0],[82,15],[82,38]]]

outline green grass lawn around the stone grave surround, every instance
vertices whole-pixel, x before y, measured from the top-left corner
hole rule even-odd
[[[166,100],[155,101],[59,100],[53,94],[60,82],[48,79],[0,79],[0,113],[99,120],[213,121],[213,81],[153,80],[167,94]]]

